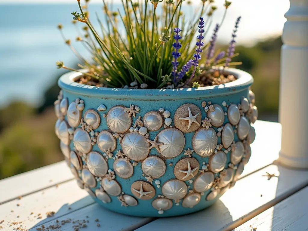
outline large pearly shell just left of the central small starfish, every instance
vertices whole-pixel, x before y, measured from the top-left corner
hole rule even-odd
[[[143,160],[149,154],[149,143],[144,136],[138,132],[126,134],[122,140],[124,154],[131,160]]]

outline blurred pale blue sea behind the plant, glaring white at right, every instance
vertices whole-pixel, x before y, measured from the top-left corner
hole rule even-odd
[[[256,39],[277,34],[277,31],[281,30],[283,13],[286,12],[287,6],[278,8],[271,15],[260,15],[253,8],[245,6],[248,4],[246,2],[253,1],[238,1],[243,4],[236,6],[235,2],[234,8],[230,8],[218,37],[220,42],[227,43],[230,40],[234,22],[240,14],[242,22],[238,43],[253,44]],[[287,0],[279,0],[279,3],[280,1]],[[115,5],[114,9],[118,7],[120,5]],[[93,15],[98,12],[103,18],[101,4],[90,4],[89,8]],[[63,43],[57,30],[57,24],[62,23],[66,37],[75,40],[78,34],[71,23],[72,11],[78,11],[77,4],[0,3],[0,107],[13,100],[39,105],[42,103],[44,91],[63,73],[63,70],[56,69],[55,62],[62,60],[66,66],[76,65],[78,59]],[[188,16],[194,14],[194,9],[190,6],[183,7],[183,11]],[[221,8],[214,15],[213,22],[220,22],[222,14]],[[274,21],[269,22],[266,18],[275,15],[277,17]],[[214,23],[212,27],[215,26]],[[73,45],[87,56],[80,44]]]

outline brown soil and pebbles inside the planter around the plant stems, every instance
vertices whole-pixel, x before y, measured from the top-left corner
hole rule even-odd
[[[201,85],[201,87],[206,87],[206,86],[214,86],[214,85],[219,85],[219,84],[230,83],[234,80],[236,80],[236,78],[233,75],[220,74],[219,71],[215,71],[213,73],[211,72],[211,73],[199,75],[197,78],[193,79],[193,82],[197,81]],[[99,83],[98,79],[94,79],[86,75],[83,75],[80,79],[76,79],[75,82],[86,84],[86,85],[91,85],[95,87],[107,87],[107,86],[104,86],[102,83]],[[172,86],[172,83],[167,83],[167,84],[168,86],[163,87],[163,88],[171,88],[171,89],[174,88]],[[191,86],[188,86],[188,85],[182,86],[182,88],[188,88],[188,87],[191,87]],[[140,86],[136,86],[136,87],[126,86],[124,88],[141,89]]]

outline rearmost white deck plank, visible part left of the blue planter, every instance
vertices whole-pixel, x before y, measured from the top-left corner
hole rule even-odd
[[[44,188],[73,179],[65,161],[60,161],[0,180],[0,205]]]

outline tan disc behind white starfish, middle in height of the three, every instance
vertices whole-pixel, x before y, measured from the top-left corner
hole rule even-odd
[[[197,168],[197,169],[193,172],[193,176],[189,175],[185,178],[185,176],[187,174],[184,173],[184,172],[179,172],[179,170],[187,171],[188,170],[188,162],[190,164],[191,170],[193,170],[194,168]],[[183,158],[183,159],[179,160],[176,163],[176,165],[174,166],[173,173],[176,176],[176,178],[179,179],[179,180],[190,180],[191,178],[193,178],[194,176],[197,175],[199,168],[200,168],[200,164],[199,164],[197,159],[195,159],[193,157],[187,157],[187,158]]]

